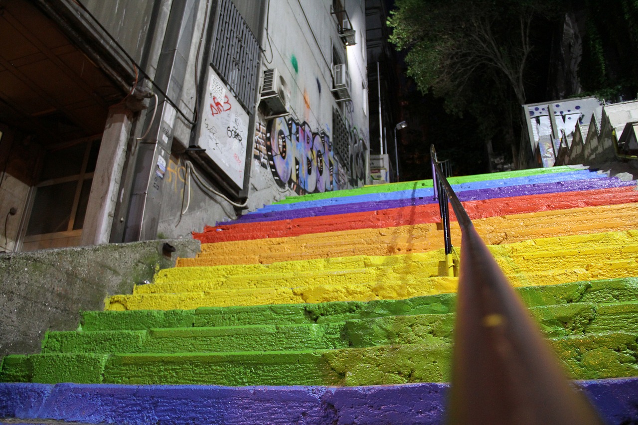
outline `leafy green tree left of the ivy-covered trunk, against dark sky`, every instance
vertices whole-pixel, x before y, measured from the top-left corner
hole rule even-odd
[[[562,3],[396,0],[390,41],[406,52],[408,75],[422,93],[443,98],[450,113],[473,114],[486,144],[516,156],[517,111],[528,100],[526,71],[543,28],[538,22],[560,16]]]

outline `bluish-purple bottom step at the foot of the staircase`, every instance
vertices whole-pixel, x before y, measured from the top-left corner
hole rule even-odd
[[[638,378],[575,382],[608,424],[638,421]],[[440,424],[448,384],[373,387],[0,384],[0,417],[91,424]]]

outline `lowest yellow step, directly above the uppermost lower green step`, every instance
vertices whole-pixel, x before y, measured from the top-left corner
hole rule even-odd
[[[586,256],[576,256],[579,262],[572,260],[572,267],[565,268],[565,256],[555,257],[556,261],[533,262],[531,260],[506,261],[499,259],[503,271],[515,287],[554,285],[579,280],[604,278],[625,278],[638,274],[638,262],[633,259],[609,260],[599,265]],[[547,267],[547,269],[544,269]],[[579,268],[577,268],[579,267]],[[521,269],[531,271],[521,271]],[[390,271],[392,269],[389,269]],[[374,271],[374,270],[373,270]],[[297,302],[325,301],[372,301],[387,297],[404,299],[420,295],[434,295],[456,291],[457,278],[442,276],[421,276],[418,273],[404,271],[403,274],[381,273],[380,278],[364,272],[348,275],[360,280],[334,279],[317,281],[265,280],[265,286],[244,285],[190,292],[162,292],[133,295],[114,295],[107,301],[107,309],[174,309],[198,308],[205,306],[251,305],[251,304],[289,304]],[[279,286],[267,286],[278,283]],[[288,285],[292,284],[292,285]],[[232,302],[231,302],[232,301]]]

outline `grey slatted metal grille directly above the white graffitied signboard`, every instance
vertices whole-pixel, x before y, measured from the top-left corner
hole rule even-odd
[[[231,0],[221,0],[211,64],[252,114],[258,84],[259,44]]]

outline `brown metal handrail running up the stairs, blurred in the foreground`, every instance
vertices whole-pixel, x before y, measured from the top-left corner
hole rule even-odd
[[[461,227],[448,421],[453,424],[602,424],[575,391],[523,301],[477,233],[433,154]],[[433,177],[434,177],[433,175]]]

